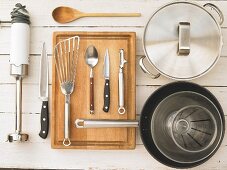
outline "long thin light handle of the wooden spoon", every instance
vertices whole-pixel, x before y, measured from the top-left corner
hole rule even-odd
[[[83,17],[140,17],[140,13],[83,13]]]

